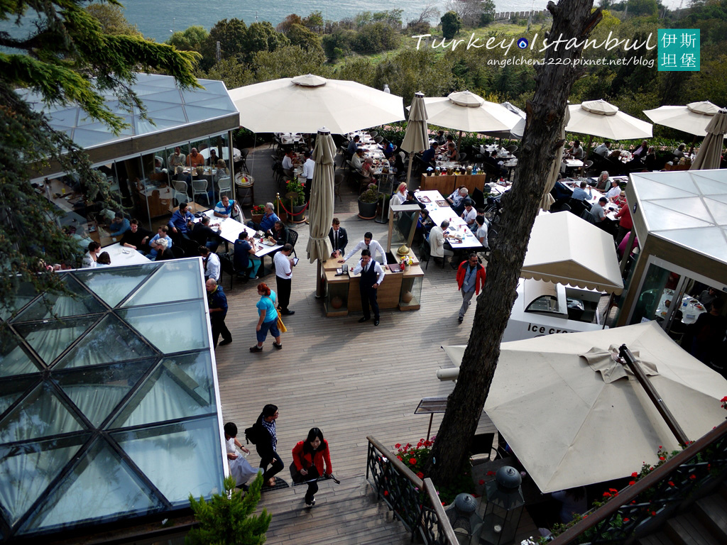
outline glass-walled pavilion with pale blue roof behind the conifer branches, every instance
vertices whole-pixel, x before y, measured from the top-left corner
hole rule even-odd
[[[53,129],[65,132],[91,158],[95,169],[108,180],[124,209],[151,228],[156,218],[172,213],[182,201],[199,198],[207,206],[214,205],[204,190],[192,185],[174,184],[174,167],[169,158],[179,147],[185,156],[196,148],[204,158],[215,150],[233,171],[239,150],[233,148],[232,131],[238,129],[240,113],[230,99],[222,81],[199,79],[202,89],[180,89],[172,76],[138,73],[132,90],[146,108],[143,118],[138,108],[124,109],[115,94],[105,95],[105,105],[129,126],[121,134],[113,134],[105,124],[92,118],[75,105],[47,105],[38,94],[26,91],[23,99],[49,118]],[[164,169],[164,171],[157,171]],[[107,246],[111,240],[98,227],[113,217],[114,211],[102,210],[81,195],[77,180],[66,175],[60,165],[39,166],[32,174],[33,182],[45,190],[47,198],[63,211],[60,225],[72,227],[81,238],[80,246],[95,240]],[[231,174],[234,179],[234,173]],[[206,182],[206,191],[219,193],[216,180],[206,172],[198,177]],[[193,190],[199,189],[198,196]]]

